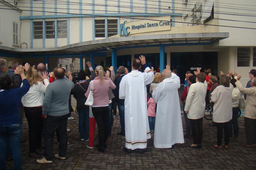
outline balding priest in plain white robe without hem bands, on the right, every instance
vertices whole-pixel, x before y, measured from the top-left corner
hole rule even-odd
[[[155,148],[171,148],[176,143],[184,143],[183,127],[180,114],[178,89],[180,78],[172,74],[170,66],[162,71],[163,81],[152,93],[157,103],[157,114],[154,131]]]

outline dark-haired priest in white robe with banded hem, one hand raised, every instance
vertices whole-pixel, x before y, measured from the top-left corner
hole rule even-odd
[[[150,139],[146,105],[146,85],[152,83],[154,72],[146,65],[144,56],[134,58],[132,71],[120,82],[119,98],[125,99],[125,152],[146,152],[147,139]],[[138,71],[141,64],[145,72]]]

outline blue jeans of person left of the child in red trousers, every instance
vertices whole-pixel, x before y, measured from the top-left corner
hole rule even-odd
[[[81,139],[89,139],[89,107],[78,111],[78,128]]]

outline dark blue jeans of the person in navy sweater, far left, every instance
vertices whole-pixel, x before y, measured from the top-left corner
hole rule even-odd
[[[5,152],[9,142],[13,155],[14,169],[21,168],[21,124],[0,125],[0,170],[6,170]]]

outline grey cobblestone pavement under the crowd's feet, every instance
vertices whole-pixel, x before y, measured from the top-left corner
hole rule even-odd
[[[180,88],[181,89],[181,88]],[[182,90],[179,90],[182,92]],[[75,105],[75,99],[72,100]],[[78,115],[68,120],[68,140],[73,146],[68,146],[66,160],[53,160],[50,165],[40,165],[35,158],[29,158],[28,124],[24,118],[22,138],[26,142],[21,144],[22,162],[24,170],[256,170],[256,148],[246,148],[243,117],[238,119],[239,138],[230,140],[228,150],[217,150],[213,147],[217,143],[216,127],[209,127],[211,121],[204,119],[203,147],[192,149],[188,145],[193,142],[192,137],[185,138],[184,144],[177,144],[173,149],[156,149],[153,139],[148,140],[149,152],[144,154],[125,153],[125,137],[117,135],[120,132],[119,117],[114,117],[114,127],[104,153],[97,148],[86,147],[88,142],[82,142],[78,132]],[[183,129],[185,120],[182,115]],[[97,128],[96,128],[97,129]],[[97,144],[97,132],[94,137]],[[224,137],[223,137],[224,140]],[[57,153],[57,139],[54,139],[54,153]],[[13,169],[13,163],[7,162],[7,169]]]

